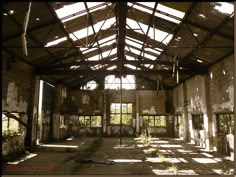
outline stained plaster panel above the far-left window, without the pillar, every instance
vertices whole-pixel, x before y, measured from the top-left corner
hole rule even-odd
[[[32,68],[3,52],[2,111],[27,112],[31,104]]]

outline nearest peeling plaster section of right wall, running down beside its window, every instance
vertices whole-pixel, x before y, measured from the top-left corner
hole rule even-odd
[[[225,135],[217,133],[216,113],[234,111],[233,55],[209,69],[211,105],[213,113],[213,141],[215,149],[225,152]]]

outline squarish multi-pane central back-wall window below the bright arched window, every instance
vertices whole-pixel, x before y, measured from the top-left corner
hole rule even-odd
[[[132,103],[111,103],[111,124],[120,124],[121,107],[122,106],[122,125],[132,125]]]

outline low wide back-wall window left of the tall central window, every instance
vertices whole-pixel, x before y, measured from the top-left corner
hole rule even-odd
[[[80,127],[102,127],[102,116],[79,116]]]

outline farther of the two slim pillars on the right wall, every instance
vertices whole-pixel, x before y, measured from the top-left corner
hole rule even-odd
[[[186,142],[190,141],[189,138],[189,118],[188,118],[188,100],[187,100],[187,88],[186,82],[183,83],[183,92],[184,92],[184,116],[183,116],[183,124],[184,124],[184,140]]]

